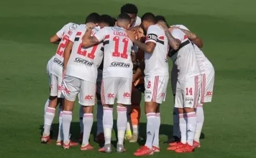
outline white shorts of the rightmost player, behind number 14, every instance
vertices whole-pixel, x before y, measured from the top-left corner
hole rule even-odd
[[[198,102],[211,102],[212,92],[214,91],[214,69],[206,71],[202,74],[201,93]]]

